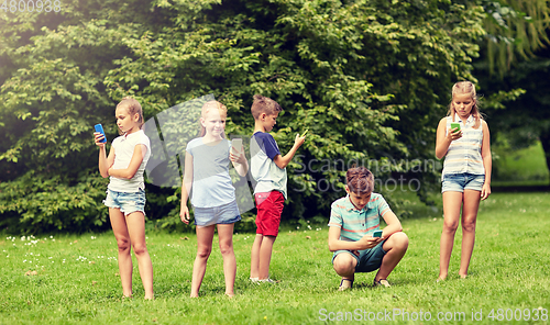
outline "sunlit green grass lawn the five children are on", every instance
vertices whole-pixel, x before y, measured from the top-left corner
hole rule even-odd
[[[521,320],[512,322],[516,324],[548,324],[549,215],[550,193],[490,197],[480,209],[470,277],[458,277],[459,232],[450,277],[439,283],[442,218],[415,215],[403,222],[410,246],[389,277],[393,287],[372,288],[374,273],[358,274],[355,288],[349,292],[337,291],[340,279],[330,264],[326,225],[283,228],[271,267],[272,278],[280,282],[273,285],[249,282],[254,235],[235,234],[234,299],[223,295],[217,246],[201,296],[188,298],[194,234],[147,233],[155,301],[143,300],[135,259],[134,299],[121,299],[111,233],[35,238],[3,235],[0,324],[320,324],[345,316],[348,321],[378,318],[382,321],[374,323],[396,324],[509,324],[506,317]],[[431,320],[425,321],[428,315]]]

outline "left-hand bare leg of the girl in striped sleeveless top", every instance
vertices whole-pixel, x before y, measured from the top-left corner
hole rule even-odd
[[[443,192],[443,231],[439,247],[439,277],[443,280],[449,272],[454,234],[459,227],[460,208],[462,205],[462,192]]]

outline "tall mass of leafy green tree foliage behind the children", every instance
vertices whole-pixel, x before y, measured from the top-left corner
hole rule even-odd
[[[288,167],[284,218],[327,215],[353,162],[387,166],[373,170],[381,180],[418,179],[426,198],[437,171],[394,161],[432,160],[452,82],[475,80],[485,16],[479,3],[436,0],[72,0],[58,14],[8,13],[0,18],[8,25],[0,32],[0,180],[8,192],[40,192],[21,181],[32,171],[76,192],[99,177],[91,126],[102,123],[112,139],[113,105],[124,96],[150,120],[212,93],[229,109],[227,134],[250,135],[252,97],[262,93],[284,108],[273,132],[283,153],[309,128]],[[387,188],[376,190],[391,199]],[[147,192],[147,215],[163,227],[179,227],[177,193]],[[42,218],[47,205],[31,214],[3,206],[11,224],[23,215],[44,225],[58,218]]]

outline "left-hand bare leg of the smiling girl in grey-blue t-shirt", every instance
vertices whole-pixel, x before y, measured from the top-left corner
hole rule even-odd
[[[212,251],[212,238],[216,225],[197,226],[197,257],[193,265],[193,280],[191,280],[191,294],[190,296],[199,296],[200,284],[205,278],[206,265],[208,257]]]

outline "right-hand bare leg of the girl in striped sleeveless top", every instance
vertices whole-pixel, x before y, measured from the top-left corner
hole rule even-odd
[[[481,192],[464,190],[464,208],[462,209],[462,251],[459,276],[465,278],[475,243],[475,222],[480,208]]]

